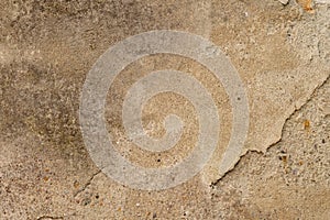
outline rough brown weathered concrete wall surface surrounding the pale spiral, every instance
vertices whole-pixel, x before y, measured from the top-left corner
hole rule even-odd
[[[330,13],[329,4],[308,6],[311,12],[301,2],[1,1],[0,219],[328,219]],[[113,136],[125,140],[121,95],[143,74],[168,66],[202,81],[228,124],[201,174],[173,189],[139,191],[118,185],[90,160],[79,130],[79,96],[109,46],[161,29],[202,35],[226,52],[248,90],[251,129],[241,161],[220,178],[231,128],[222,86],[184,57],[132,64],[109,91]],[[119,144],[123,156],[162,166],[189,152],[196,119],[180,97],[152,100],[145,127],[152,124],[152,136],[164,133],[157,112],[170,111],[160,106],[168,102],[189,125],[186,138],[162,155]]]

